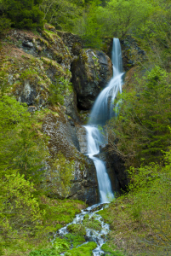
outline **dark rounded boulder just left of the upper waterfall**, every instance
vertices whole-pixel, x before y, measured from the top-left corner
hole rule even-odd
[[[78,108],[90,109],[112,77],[111,59],[102,51],[82,49],[72,63],[71,73]]]

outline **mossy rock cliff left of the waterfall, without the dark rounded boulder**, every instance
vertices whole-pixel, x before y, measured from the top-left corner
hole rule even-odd
[[[54,198],[94,204],[98,201],[96,172],[93,161],[80,149],[78,138],[83,128],[78,124],[77,96],[71,86],[71,61],[79,54],[79,41],[76,45],[77,39],[71,35],[70,53],[54,27],[45,28],[39,35],[11,30],[4,37],[0,53],[3,86],[18,101],[27,103],[31,115],[41,116],[43,121],[49,150],[43,189]],[[57,98],[54,104],[49,103],[52,84],[54,100]],[[66,183],[70,178],[71,183]]]

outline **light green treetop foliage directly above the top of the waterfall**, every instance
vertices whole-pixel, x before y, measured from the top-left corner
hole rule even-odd
[[[104,36],[125,37],[142,26],[152,11],[151,3],[146,0],[111,0],[102,5],[94,1],[75,21],[73,32],[83,38],[86,47],[100,48]]]

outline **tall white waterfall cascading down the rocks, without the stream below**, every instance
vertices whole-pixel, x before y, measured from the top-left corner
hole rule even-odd
[[[105,163],[94,155],[100,153],[100,145],[104,142],[104,138],[98,129],[98,125],[105,125],[106,120],[111,119],[111,117],[114,115],[114,100],[117,96],[117,93],[119,91],[120,93],[122,92],[122,52],[119,39],[117,38],[113,39],[111,61],[113,64],[113,78],[97,97],[90,114],[88,125],[84,126],[87,131],[87,154],[88,157],[94,161],[94,166],[97,172],[100,191],[100,203],[109,202],[113,198],[113,193],[111,191],[111,181],[106,172]]]

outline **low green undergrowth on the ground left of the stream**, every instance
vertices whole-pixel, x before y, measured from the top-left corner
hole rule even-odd
[[[9,243],[4,243],[2,255],[5,256],[23,256],[31,251],[33,255],[59,255],[50,242],[54,233],[72,221],[77,213],[85,207],[82,201],[73,200],[54,200],[46,196],[39,197],[39,206],[45,211],[43,216],[43,229],[37,230],[36,236],[18,236],[17,240],[11,239]],[[1,239],[1,236],[0,236]],[[70,242],[56,241],[56,247],[66,247]]]

